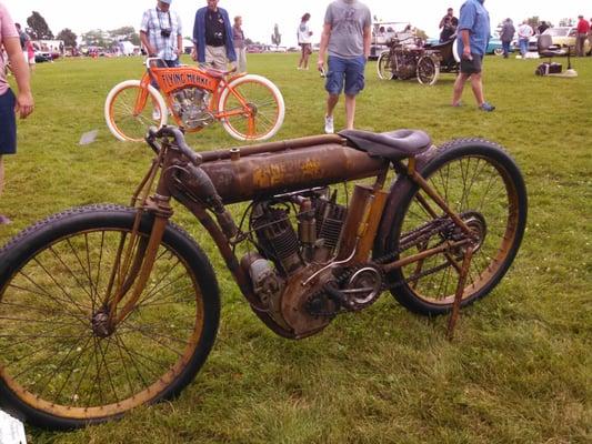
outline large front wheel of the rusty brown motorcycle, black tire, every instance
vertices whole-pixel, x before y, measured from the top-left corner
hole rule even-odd
[[[136,265],[118,253],[134,218],[116,205],[73,209],[0,251],[0,403],[24,421],[74,428],[118,417],[177,395],[204,363],[218,330],[215,275],[173,224],[131,313],[107,321],[107,295]],[[140,258],[150,228],[146,215],[132,243]]]

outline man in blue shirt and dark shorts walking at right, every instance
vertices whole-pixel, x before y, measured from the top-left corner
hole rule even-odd
[[[459,20],[459,53],[461,56],[461,70],[454,82],[452,107],[460,107],[464,83],[470,78],[471,88],[476,99],[479,109],[493,111],[495,107],[485,102],[481,71],[483,56],[488,48],[491,34],[489,12],[483,6],[484,0],[466,0],[461,7]]]

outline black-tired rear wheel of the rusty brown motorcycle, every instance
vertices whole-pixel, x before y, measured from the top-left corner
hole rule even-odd
[[[439,151],[420,173],[478,239],[462,294],[464,306],[486,295],[512,264],[526,223],[526,190],[512,158],[491,142],[458,140]],[[403,259],[463,236],[417,185],[394,208],[399,213],[387,238],[387,253]],[[446,313],[464,254],[458,248],[395,270],[389,275],[393,295],[414,312]]]

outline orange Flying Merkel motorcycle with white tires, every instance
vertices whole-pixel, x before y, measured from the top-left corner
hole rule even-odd
[[[220,121],[241,141],[270,139],[283,123],[282,94],[264,77],[231,75],[232,71],[198,67],[168,68],[155,58],[147,59],[146,67],[141,80],[117,84],[104,102],[107,125],[121,141],[142,141],[146,129],[164,125],[169,114],[187,132]]]

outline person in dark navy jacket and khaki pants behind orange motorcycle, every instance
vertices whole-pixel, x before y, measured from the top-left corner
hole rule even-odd
[[[230,19],[218,8],[218,0],[208,0],[208,6],[195,12],[193,43],[193,57],[200,65],[225,70],[228,62],[237,61]]]

